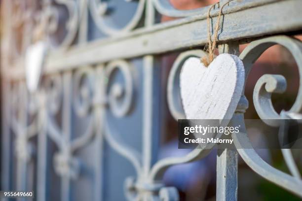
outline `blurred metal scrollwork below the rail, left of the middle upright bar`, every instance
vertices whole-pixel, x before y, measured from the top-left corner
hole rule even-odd
[[[53,74],[44,79],[37,94],[28,94],[24,82],[13,85],[11,89],[13,101],[10,107],[11,127],[16,134],[16,156],[20,161],[20,165],[18,165],[20,168],[18,170],[20,177],[18,188],[20,190],[26,189],[24,185],[22,186],[26,178],[22,177],[25,175],[27,163],[33,154],[29,140],[37,134],[38,137],[40,135],[42,137],[49,136],[57,146],[58,151],[53,156],[53,167],[62,178],[62,200],[68,200],[69,180],[77,179],[83,166],[81,161],[74,156],[74,153],[87,145],[96,134],[99,137],[103,133],[105,140],[112,148],[132,162],[139,175],[139,154],[118,140],[118,134],[109,128],[106,118],[104,118],[107,107],[117,118],[129,113],[134,88],[131,71],[133,70],[126,61],[118,60],[106,66],[79,68],[74,75],[72,72]],[[111,82],[111,76],[115,72],[122,74],[124,83]],[[72,88],[74,88],[73,93],[70,91]],[[25,101],[28,99],[27,97],[30,97],[30,102]],[[121,104],[119,103],[120,100],[122,100]],[[88,118],[85,130],[76,138],[73,138],[71,133],[72,111],[76,113],[78,118]],[[61,123],[56,120],[59,114],[62,115]],[[31,117],[30,124],[28,124],[28,117]],[[62,125],[61,128],[59,125]],[[42,141],[44,142],[42,147],[45,147],[45,139]],[[45,150],[40,151],[38,154],[45,154]],[[39,160],[44,160],[44,158],[46,158],[45,155],[38,157],[38,164],[40,164]],[[42,163],[42,166],[45,164]],[[39,167],[39,169],[44,168]],[[40,170],[39,176],[43,177],[41,174],[45,174],[45,171]],[[45,185],[45,181],[38,185],[38,194],[45,192],[43,189]],[[42,195],[38,195],[38,198],[45,199]]]

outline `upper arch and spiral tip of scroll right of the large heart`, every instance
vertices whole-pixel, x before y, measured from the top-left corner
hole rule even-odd
[[[297,62],[300,78],[302,77],[302,42],[300,40],[287,36],[273,36],[252,42],[240,54],[240,59],[244,63],[246,78],[254,62],[269,47],[280,44],[287,48]],[[271,100],[271,93],[282,93],[286,89],[286,80],[281,75],[264,75],[262,76],[254,90],[254,104],[256,111],[261,119],[279,119],[279,115],[274,110]],[[302,80],[295,103],[289,112],[302,111]]]

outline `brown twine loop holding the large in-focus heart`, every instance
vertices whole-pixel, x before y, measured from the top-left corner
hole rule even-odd
[[[218,14],[218,19],[217,19],[217,22],[216,22],[216,26],[215,26],[215,31],[214,31],[214,38],[213,38],[213,41],[212,41],[212,38],[211,38],[211,32],[210,32],[210,11],[211,9],[218,3],[215,3],[213,4],[209,10],[208,10],[208,17],[207,17],[207,23],[208,23],[208,43],[206,44],[206,52],[208,52],[208,55],[205,56],[205,57],[202,57],[200,59],[200,61],[204,64],[205,67],[208,67],[211,62],[215,59],[215,54],[214,54],[214,51],[215,51],[215,48],[216,48],[216,43],[217,43],[217,35],[218,35],[218,31],[219,31],[219,25],[220,25],[220,18],[221,18],[221,15],[222,15],[222,10],[224,8],[225,5],[227,5],[229,2],[231,2],[233,0],[229,0],[227,1],[225,4],[223,4],[220,8],[220,11],[219,11],[219,14]]]

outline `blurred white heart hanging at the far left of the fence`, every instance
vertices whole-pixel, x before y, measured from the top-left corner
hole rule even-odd
[[[30,92],[38,88],[42,67],[47,51],[46,43],[39,41],[27,48],[25,54],[26,84]]]

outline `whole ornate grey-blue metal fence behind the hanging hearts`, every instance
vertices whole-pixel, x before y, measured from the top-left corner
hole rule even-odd
[[[173,165],[202,159],[211,150],[194,149],[183,157],[157,159],[162,121],[160,91],[165,87],[160,85],[157,55],[203,46],[207,42],[209,7],[176,10],[167,0],[117,4],[103,0],[54,1],[39,1],[40,9],[25,6],[26,1],[2,1],[3,190],[36,189],[39,201],[178,201],[177,189],[164,186],[163,173]],[[66,15],[58,11],[58,5],[65,8]],[[122,13],[132,15],[123,15],[121,7]],[[219,9],[217,4],[211,16],[217,16]],[[12,10],[15,15],[10,15]],[[301,0],[230,2],[223,10],[219,52],[237,55],[239,42],[271,34],[301,33],[301,10]],[[156,11],[184,18],[155,24]],[[212,20],[215,24],[216,17]],[[62,35],[57,33],[60,26],[65,28]],[[45,36],[52,50],[41,84],[30,93],[24,80],[23,56],[38,34]],[[302,77],[301,41],[274,36],[256,40],[242,52],[245,79],[252,64],[274,44],[291,51]],[[184,50],[174,62],[167,101],[175,120],[184,118],[181,67],[189,57],[204,55],[201,50]],[[290,111],[274,111],[269,95],[282,92],[284,86],[285,80],[279,75],[264,75],[255,86],[254,104],[264,121],[280,115],[297,117],[302,111],[302,79]],[[243,92],[230,124],[242,125],[247,107]],[[218,153],[217,199],[237,199],[238,153],[255,172],[302,197],[301,175],[291,151],[282,150],[289,175],[266,164],[254,149],[242,148],[250,144],[245,129],[241,129],[242,135],[232,135],[237,150]],[[82,193],[84,190],[88,193]]]

